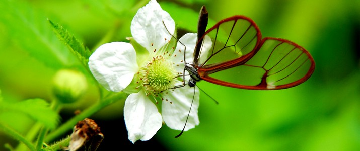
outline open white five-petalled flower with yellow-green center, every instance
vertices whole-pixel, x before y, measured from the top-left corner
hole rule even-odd
[[[102,86],[131,93],[125,101],[124,119],[133,143],[152,138],[163,121],[172,129],[182,130],[192,99],[185,131],[199,124],[199,91],[194,94],[189,86],[171,89],[183,84],[185,51],[165,26],[175,34],[174,20],[152,0],[134,16],[130,43],[104,44],[89,58],[89,68]],[[179,40],[186,45],[186,60],[190,62],[196,34],[185,34]]]

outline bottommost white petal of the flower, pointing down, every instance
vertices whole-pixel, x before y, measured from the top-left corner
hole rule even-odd
[[[144,91],[130,94],[124,107],[124,119],[129,140],[149,140],[160,129],[163,120],[155,104]]]

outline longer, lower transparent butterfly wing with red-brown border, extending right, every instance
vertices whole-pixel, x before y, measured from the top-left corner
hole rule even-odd
[[[313,57],[289,40],[267,37],[256,49],[256,54],[246,62],[229,61],[222,66],[199,68],[199,75],[205,81],[223,86],[272,90],[297,86],[314,72]]]

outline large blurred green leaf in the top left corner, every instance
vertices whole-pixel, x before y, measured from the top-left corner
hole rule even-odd
[[[42,11],[33,9],[24,1],[5,0],[0,1],[0,14],[3,14],[0,15],[0,41],[5,42],[2,44],[5,46],[2,47],[3,51],[0,51],[2,59],[14,60],[4,57],[7,55],[17,55],[19,58],[30,56],[55,69],[79,63],[47,28],[46,16]]]

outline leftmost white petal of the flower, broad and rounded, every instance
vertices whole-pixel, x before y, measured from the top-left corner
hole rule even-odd
[[[125,42],[101,45],[90,56],[88,64],[96,80],[114,92],[126,88],[138,70],[135,50]]]

